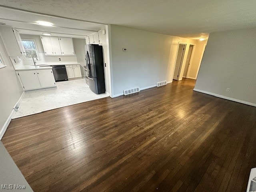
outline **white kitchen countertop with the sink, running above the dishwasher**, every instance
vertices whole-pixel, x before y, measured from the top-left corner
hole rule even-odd
[[[41,70],[41,69],[52,69],[52,65],[78,65],[80,63],[78,62],[44,62],[38,65],[22,65],[16,68],[16,71],[22,71],[22,70]]]

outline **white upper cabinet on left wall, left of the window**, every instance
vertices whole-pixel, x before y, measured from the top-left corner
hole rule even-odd
[[[0,26],[0,33],[9,56],[26,55],[19,32],[11,26]]]

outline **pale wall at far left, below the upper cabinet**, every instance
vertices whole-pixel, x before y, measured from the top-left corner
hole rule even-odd
[[[10,58],[0,37],[0,52],[6,63],[5,68],[0,69],[0,138],[4,132],[3,128],[8,120],[12,109],[22,95],[22,87],[16,76]],[[6,128],[5,127],[5,128]]]

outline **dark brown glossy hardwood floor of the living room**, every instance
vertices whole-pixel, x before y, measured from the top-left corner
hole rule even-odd
[[[256,107],[194,83],[14,119],[2,142],[35,192],[245,192]]]

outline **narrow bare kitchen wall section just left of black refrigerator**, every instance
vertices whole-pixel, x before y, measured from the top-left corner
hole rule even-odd
[[[86,66],[85,61],[85,50],[84,46],[86,45],[85,39],[73,38],[74,51],[76,53],[77,62],[80,63],[80,69],[82,76],[85,77],[85,71],[83,66]]]

